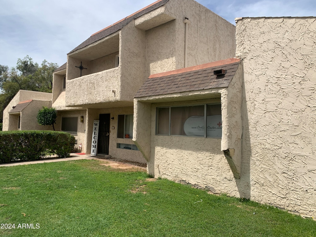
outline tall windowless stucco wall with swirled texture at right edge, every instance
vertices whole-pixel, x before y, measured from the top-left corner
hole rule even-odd
[[[253,200],[316,215],[316,19],[244,18],[243,169]]]

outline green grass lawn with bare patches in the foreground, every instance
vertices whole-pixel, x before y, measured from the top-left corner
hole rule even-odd
[[[0,167],[0,224],[15,224],[0,236],[316,236],[311,219],[100,164]]]

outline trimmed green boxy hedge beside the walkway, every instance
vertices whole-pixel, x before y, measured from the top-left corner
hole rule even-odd
[[[43,159],[47,153],[69,157],[75,137],[58,131],[0,131],[0,164]]]

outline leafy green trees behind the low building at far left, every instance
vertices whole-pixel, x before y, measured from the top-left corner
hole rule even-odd
[[[39,66],[28,55],[19,58],[15,67],[0,65],[0,122],[3,110],[19,90],[52,92],[53,71],[58,64],[46,60]]]

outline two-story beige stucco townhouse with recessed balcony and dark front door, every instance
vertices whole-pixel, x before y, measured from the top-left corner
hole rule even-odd
[[[151,74],[235,55],[235,27],[193,0],[160,0],[91,35],[54,72],[61,131],[90,153],[146,163],[133,142],[133,97]]]

